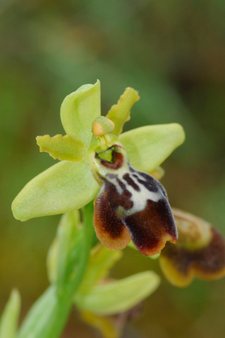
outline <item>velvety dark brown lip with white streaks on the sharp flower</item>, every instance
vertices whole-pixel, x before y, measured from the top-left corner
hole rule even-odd
[[[114,144],[112,160],[96,153],[102,181],[95,201],[94,225],[108,249],[124,249],[130,240],[146,256],[159,253],[165,242],[177,242],[177,231],[167,194],[154,177],[135,170],[121,144]]]

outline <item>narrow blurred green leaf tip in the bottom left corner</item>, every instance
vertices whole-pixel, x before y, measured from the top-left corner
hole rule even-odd
[[[20,294],[17,290],[13,290],[1,315],[0,338],[15,338],[19,314]]]

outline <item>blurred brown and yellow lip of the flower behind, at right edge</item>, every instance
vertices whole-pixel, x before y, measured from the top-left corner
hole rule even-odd
[[[179,241],[167,243],[160,255],[163,273],[175,286],[185,287],[193,277],[214,280],[225,275],[225,240],[209,223],[172,209]]]

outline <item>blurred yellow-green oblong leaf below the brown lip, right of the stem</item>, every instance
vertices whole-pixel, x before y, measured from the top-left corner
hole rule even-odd
[[[160,277],[145,271],[130,277],[98,285],[85,295],[77,294],[76,303],[82,311],[98,315],[114,315],[134,307],[152,294],[160,284]]]

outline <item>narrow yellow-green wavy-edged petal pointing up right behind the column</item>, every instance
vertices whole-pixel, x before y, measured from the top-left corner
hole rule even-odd
[[[139,101],[140,96],[136,90],[128,87],[124,94],[120,96],[117,104],[112,106],[106,118],[109,118],[115,123],[115,130],[113,134],[119,136],[122,132],[122,127],[130,119],[130,110],[131,107],[135,104],[136,101]]]

